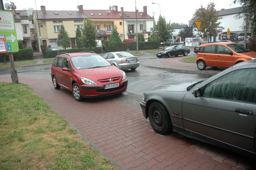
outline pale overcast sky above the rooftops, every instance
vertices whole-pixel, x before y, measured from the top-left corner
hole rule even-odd
[[[135,6],[139,12],[143,6],[147,6],[148,15],[153,16],[157,21],[159,14],[165,17],[166,22],[188,24],[196,9],[201,4],[207,8],[207,4],[214,2],[216,10],[237,8],[240,5],[232,3],[234,0],[3,0],[4,4],[13,2],[17,10],[34,8],[40,10],[40,6],[46,6],[46,10],[78,10],[77,6],[83,5],[84,10],[108,10],[109,6],[121,7],[124,11],[134,11]],[[152,2],[157,4],[152,4]],[[158,5],[159,4],[159,5]],[[153,14],[154,13],[154,14]]]

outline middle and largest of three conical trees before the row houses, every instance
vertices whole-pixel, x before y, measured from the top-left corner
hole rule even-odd
[[[84,28],[82,29],[82,36],[79,38],[84,47],[96,47],[98,38],[98,32],[93,24],[92,20],[88,17],[84,19]]]

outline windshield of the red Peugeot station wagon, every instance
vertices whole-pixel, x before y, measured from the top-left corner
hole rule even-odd
[[[71,57],[71,62],[76,69],[107,67],[111,65],[100,55],[81,55]]]

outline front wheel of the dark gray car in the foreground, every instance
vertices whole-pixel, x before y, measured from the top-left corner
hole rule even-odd
[[[152,128],[159,134],[172,132],[172,121],[167,109],[162,103],[154,101],[148,109],[148,118]]]

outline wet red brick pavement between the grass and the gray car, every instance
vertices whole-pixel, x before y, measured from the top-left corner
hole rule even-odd
[[[11,78],[0,81],[11,82]],[[55,90],[50,80],[20,78],[60,113],[120,169],[226,170],[253,169],[254,161],[228,150],[176,133],[152,130],[144,119],[142,96],[123,93],[77,102],[71,92]]]

